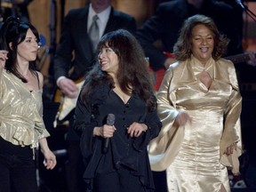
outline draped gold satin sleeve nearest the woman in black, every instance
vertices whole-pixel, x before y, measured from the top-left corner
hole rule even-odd
[[[173,64],[172,67],[177,64]],[[172,163],[184,136],[184,128],[174,124],[179,111],[175,108],[175,94],[170,90],[170,82],[173,76],[172,67],[165,72],[159,92],[156,93],[157,113],[163,127],[158,136],[151,140],[148,146],[151,169],[156,172],[166,170]],[[175,84],[175,81],[172,81],[172,83]],[[175,87],[174,84],[172,84],[173,87]],[[170,95],[169,92],[171,92]],[[172,100],[170,100],[170,97]]]

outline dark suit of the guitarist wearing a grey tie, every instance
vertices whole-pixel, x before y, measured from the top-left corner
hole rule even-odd
[[[68,76],[70,68],[74,68],[74,72],[69,77],[77,80],[84,77],[85,73],[92,67],[95,55],[92,52],[92,45],[87,34],[88,13],[89,5],[85,8],[69,11],[64,18],[60,44],[56,50],[53,62],[55,80],[60,76]],[[103,35],[119,28],[127,29],[134,34],[136,22],[132,16],[124,12],[118,12],[112,7]],[[73,53],[75,53],[74,60]],[[71,116],[69,124],[72,124],[73,114],[74,110],[68,116],[68,118]],[[69,145],[67,164],[69,190],[72,192],[84,191],[83,172],[81,173],[84,169],[81,165],[83,162],[79,148],[80,138],[71,127],[68,128],[67,140]]]

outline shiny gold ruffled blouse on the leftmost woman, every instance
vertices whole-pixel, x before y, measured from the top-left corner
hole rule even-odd
[[[0,81],[0,136],[14,145],[36,148],[48,137],[43,121],[42,90],[32,91],[3,70]]]

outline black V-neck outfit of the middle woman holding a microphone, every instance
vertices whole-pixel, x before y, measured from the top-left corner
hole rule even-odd
[[[127,177],[128,175],[139,177],[141,182],[139,186],[142,186],[143,190],[153,191],[154,181],[148,161],[147,145],[157,136],[162,126],[156,110],[149,113],[145,102],[135,91],[132,91],[132,97],[124,104],[124,101],[109,88],[107,83],[100,84],[92,92],[88,103],[86,106],[90,106],[89,108],[84,105],[80,97],[78,98],[74,125],[76,131],[82,133],[81,150],[84,162],[87,164],[84,179],[87,181],[94,179],[93,185],[100,186],[104,180],[99,180],[99,177],[106,175],[104,178],[109,178],[112,175],[113,181],[108,184],[110,186],[112,184],[112,188],[105,188],[105,191],[115,191],[113,188],[118,186],[114,182],[115,175],[124,172]],[[108,152],[104,154],[102,152],[104,139],[93,137],[92,132],[95,126],[106,124],[108,114],[116,116],[116,132],[110,139]],[[131,138],[127,134],[127,127],[133,122],[147,124],[148,130],[138,138]],[[133,188],[136,191],[136,183],[129,184],[129,177],[123,180],[127,181],[124,183],[130,186],[130,189]],[[119,191],[127,191],[127,189],[122,188]]]

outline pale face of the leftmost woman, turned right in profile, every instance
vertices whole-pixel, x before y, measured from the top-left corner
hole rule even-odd
[[[18,44],[17,60],[33,61],[36,60],[38,50],[38,39],[33,34],[32,30],[28,28],[28,32],[24,41]]]

